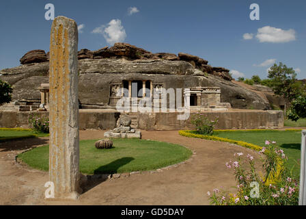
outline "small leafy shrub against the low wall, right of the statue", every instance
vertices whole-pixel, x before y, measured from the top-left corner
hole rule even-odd
[[[218,118],[210,120],[204,114],[197,113],[191,116],[191,123],[195,125],[197,132],[204,135],[212,135],[214,132],[214,125],[218,123]]]

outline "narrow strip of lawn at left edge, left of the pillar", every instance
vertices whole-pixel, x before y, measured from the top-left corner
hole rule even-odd
[[[0,142],[18,138],[35,138],[48,136],[48,133],[37,133],[31,129],[0,129]]]

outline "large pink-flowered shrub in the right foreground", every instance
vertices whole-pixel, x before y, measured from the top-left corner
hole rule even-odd
[[[214,205],[298,205],[298,182],[290,177],[286,168],[287,157],[276,142],[266,141],[259,151],[264,177],[255,169],[254,157],[234,154],[235,161],[225,166],[234,170],[237,192],[230,193],[215,188],[208,192]]]

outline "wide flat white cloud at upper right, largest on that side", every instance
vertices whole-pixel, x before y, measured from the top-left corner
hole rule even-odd
[[[283,30],[275,27],[262,27],[258,28],[256,38],[260,42],[290,42],[295,40],[294,29]]]

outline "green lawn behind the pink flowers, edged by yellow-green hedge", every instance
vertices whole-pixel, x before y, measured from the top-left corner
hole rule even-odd
[[[213,135],[259,146],[266,146],[265,140],[275,141],[276,145],[288,156],[288,167],[293,168],[294,176],[298,177],[300,174],[301,131],[214,131]]]

